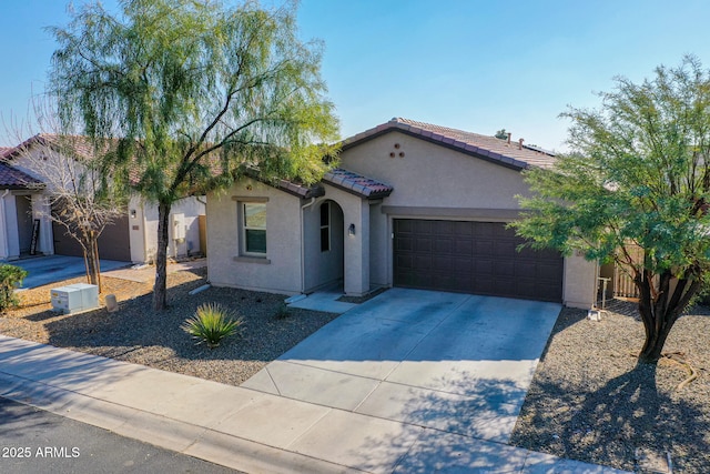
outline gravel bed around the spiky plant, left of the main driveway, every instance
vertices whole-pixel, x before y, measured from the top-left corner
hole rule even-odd
[[[285,296],[234,289],[209,289],[205,270],[168,275],[169,310],[154,313],[152,284],[102,278],[103,294],[114,294],[119,311],[105,309],[73,315],[51,311],[50,289],[82,283],[79,278],[21,293],[21,306],[0,315],[0,333],[143,364],[231,385],[239,385],[264,365],[332,321],[337,314],[288,309]],[[202,303],[219,303],[244,319],[241,337],[227,337],[210,350],[180,326]],[[103,303],[103,301],[102,301]]]

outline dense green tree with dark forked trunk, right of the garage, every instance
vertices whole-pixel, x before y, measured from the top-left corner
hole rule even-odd
[[[646,330],[639,361],[653,363],[710,274],[710,73],[687,57],[600,97],[562,113],[571,152],[527,172],[534,196],[515,228],[536,248],[626,271]]]

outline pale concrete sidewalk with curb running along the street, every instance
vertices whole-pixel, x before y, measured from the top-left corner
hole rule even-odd
[[[0,395],[250,473],[615,473],[0,335]]]

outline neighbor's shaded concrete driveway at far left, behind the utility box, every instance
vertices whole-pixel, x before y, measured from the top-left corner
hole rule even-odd
[[[45,255],[8,262],[27,270],[28,275],[22,282],[23,289],[42,286],[87,274],[84,259],[81,256]],[[101,272],[130,265],[130,262],[101,260]]]

